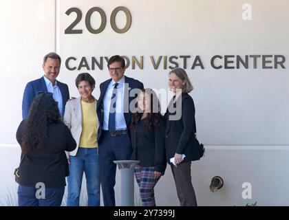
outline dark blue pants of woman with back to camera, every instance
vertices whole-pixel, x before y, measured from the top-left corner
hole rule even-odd
[[[36,191],[39,188],[22,186],[19,184],[18,206],[61,206],[65,187],[45,188],[45,199],[37,199]]]

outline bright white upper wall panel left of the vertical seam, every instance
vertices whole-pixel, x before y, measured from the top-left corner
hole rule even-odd
[[[54,51],[54,8],[54,1],[1,1],[1,145],[16,143],[25,85],[43,76],[43,56]]]

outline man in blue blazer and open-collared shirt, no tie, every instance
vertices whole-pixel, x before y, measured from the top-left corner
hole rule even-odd
[[[61,116],[64,115],[65,104],[69,99],[68,86],[56,80],[61,67],[61,57],[51,52],[43,58],[44,76],[29,82],[24,90],[22,100],[22,118],[28,118],[30,105],[34,97],[40,92],[50,92],[53,98],[58,102],[58,109]]]

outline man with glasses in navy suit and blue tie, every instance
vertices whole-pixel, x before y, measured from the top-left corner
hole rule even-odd
[[[136,98],[133,91],[143,89],[144,85],[138,80],[124,76],[125,59],[121,56],[111,56],[107,67],[111,78],[100,84],[100,98],[97,102],[97,115],[100,122],[98,156],[103,203],[105,206],[116,206],[114,160],[131,158],[132,147],[128,133],[131,122],[130,104]]]

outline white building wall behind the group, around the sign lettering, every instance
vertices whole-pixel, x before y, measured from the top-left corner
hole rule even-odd
[[[197,133],[206,145],[206,156],[193,162],[192,179],[200,206],[242,206],[257,201],[259,205],[288,205],[288,61],[286,69],[213,69],[210,59],[216,54],[289,56],[289,5],[286,0],[246,1],[252,5],[251,21],[242,19],[244,1],[78,1],[78,0],[13,0],[2,3],[0,13],[2,85],[0,92],[0,201],[5,203],[8,188],[14,188],[12,172],[19,162],[15,132],[21,121],[21,100],[25,84],[42,76],[44,54],[54,51],[63,58],[59,80],[69,85],[72,96],[78,96],[74,79],[89,72],[98,85],[109,75],[105,68],[94,71],[68,71],[65,59],[75,56],[144,56],[144,69],[127,69],[127,76],[138,78],[145,87],[167,89],[169,69],[155,70],[149,56],[191,55],[188,66],[199,55],[205,69],[186,69],[195,90]],[[110,27],[114,8],[125,6],[131,12],[131,28],[116,34]],[[98,6],[105,11],[107,25],[100,34],[85,28],[85,14]],[[76,7],[83,18],[76,29],[83,34],[64,34],[74,21],[68,8]],[[124,24],[119,13],[117,24]],[[97,28],[99,15],[92,16]],[[182,67],[182,60],[178,63]],[[218,64],[218,62],[216,63]],[[209,191],[211,178],[224,177],[225,185]],[[242,183],[250,182],[253,198],[242,198]],[[137,191],[136,187],[136,191]],[[172,190],[173,189],[173,190]],[[118,191],[118,184],[116,186]],[[118,192],[116,192],[118,193]],[[160,206],[177,206],[178,197],[171,170],[156,186]]]

